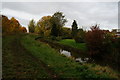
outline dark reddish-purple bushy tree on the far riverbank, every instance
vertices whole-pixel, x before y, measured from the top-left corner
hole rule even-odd
[[[92,26],[91,31],[86,33],[86,44],[92,57],[100,57],[104,53],[104,33],[98,25]],[[96,57],[96,58],[97,58]]]

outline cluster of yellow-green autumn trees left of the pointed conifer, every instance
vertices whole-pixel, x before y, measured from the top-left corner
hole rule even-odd
[[[56,12],[52,16],[43,16],[37,23],[32,19],[29,22],[28,29],[30,33],[38,33],[41,36],[62,36],[63,31],[70,33],[69,28],[63,28],[67,19],[62,12]],[[67,32],[68,31],[68,32]]]

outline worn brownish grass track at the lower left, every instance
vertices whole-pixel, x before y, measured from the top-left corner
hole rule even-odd
[[[46,64],[31,55],[14,37],[3,47],[3,78],[53,78],[56,77]],[[8,38],[9,39],[9,38]],[[7,41],[7,40],[6,40]]]

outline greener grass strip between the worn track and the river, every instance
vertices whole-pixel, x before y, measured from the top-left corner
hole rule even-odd
[[[34,35],[27,35],[21,39],[22,45],[38,60],[45,63],[54,77],[62,78],[117,78],[117,74],[109,68],[95,64],[80,65],[71,58],[67,58],[49,45],[35,41]],[[29,53],[28,53],[29,54]]]

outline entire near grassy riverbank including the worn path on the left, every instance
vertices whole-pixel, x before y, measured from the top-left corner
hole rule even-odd
[[[49,45],[35,40],[37,35],[3,38],[3,78],[118,79],[108,67],[79,64]]]

